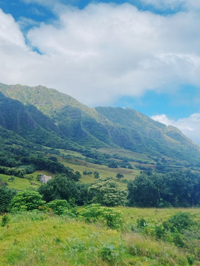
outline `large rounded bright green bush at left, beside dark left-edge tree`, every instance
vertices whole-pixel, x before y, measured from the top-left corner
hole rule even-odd
[[[32,211],[38,209],[38,206],[43,205],[42,195],[36,191],[24,190],[18,192],[11,200],[9,212],[15,213],[18,211]]]

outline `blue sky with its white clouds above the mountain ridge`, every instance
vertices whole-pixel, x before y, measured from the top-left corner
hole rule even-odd
[[[133,108],[200,145],[200,1],[0,0],[0,82]]]

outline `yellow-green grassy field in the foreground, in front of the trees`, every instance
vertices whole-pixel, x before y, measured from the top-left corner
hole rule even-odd
[[[180,210],[195,214],[197,221],[200,218],[199,209],[120,209],[125,223],[136,223],[140,217],[165,220]],[[9,227],[0,227],[1,266],[189,265],[185,249],[139,232],[113,230],[101,223],[87,224],[77,218],[39,212],[9,217]],[[106,245],[116,248],[110,260],[103,257]],[[193,265],[200,262],[194,260]]]

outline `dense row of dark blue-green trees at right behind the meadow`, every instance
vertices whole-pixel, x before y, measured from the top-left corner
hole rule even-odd
[[[191,207],[200,203],[199,189],[197,172],[142,173],[128,182],[128,202],[138,207]]]

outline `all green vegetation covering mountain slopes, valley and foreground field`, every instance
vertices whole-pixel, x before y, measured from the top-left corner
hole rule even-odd
[[[0,91],[0,265],[200,265],[197,145],[136,110]]]

